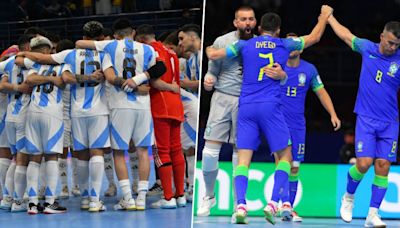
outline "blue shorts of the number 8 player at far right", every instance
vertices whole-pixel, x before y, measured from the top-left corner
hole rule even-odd
[[[366,116],[357,116],[356,156],[396,161],[399,125]]]

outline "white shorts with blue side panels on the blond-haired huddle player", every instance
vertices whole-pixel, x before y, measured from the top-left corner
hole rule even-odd
[[[64,122],[44,113],[30,112],[26,118],[25,146],[29,154],[62,154]]]

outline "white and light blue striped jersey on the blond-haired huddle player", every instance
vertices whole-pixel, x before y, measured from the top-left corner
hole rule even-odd
[[[68,65],[41,65],[29,70],[28,77],[36,73],[45,77],[61,77],[63,68]],[[63,90],[53,83],[36,85],[32,89],[29,112],[46,113],[63,120]]]

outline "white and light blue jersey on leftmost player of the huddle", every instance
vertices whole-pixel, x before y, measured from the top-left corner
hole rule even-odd
[[[2,77],[8,77],[11,84],[22,84],[28,75],[27,68],[37,67],[38,65],[28,58],[24,59],[25,67],[15,65],[15,56],[0,63],[0,73]],[[9,93],[6,121],[17,122],[20,116],[25,115],[30,96],[22,93]]]

